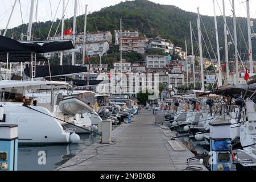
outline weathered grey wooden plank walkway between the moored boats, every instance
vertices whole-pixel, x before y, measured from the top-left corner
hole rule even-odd
[[[118,126],[112,140],[116,144],[92,144],[57,170],[66,171],[181,171],[187,166],[187,158],[194,155],[176,140],[185,151],[174,151],[163,133],[162,127],[154,124],[155,117],[148,110],[141,110],[130,124]],[[98,155],[95,156],[96,147]],[[93,157],[94,156],[94,157]],[[93,157],[93,158],[90,158]],[[89,160],[86,160],[90,158]],[[79,162],[79,164],[77,164]],[[192,166],[203,167],[199,163]]]

